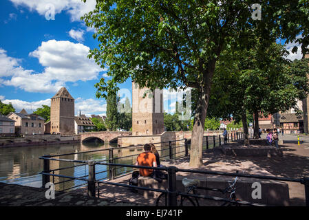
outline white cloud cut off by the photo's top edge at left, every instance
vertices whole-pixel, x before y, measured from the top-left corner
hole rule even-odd
[[[96,0],[87,0],[85,3],[81,0],[10,0],[14,5],[23,6],[30,11],[35,10],[42,16],[47,12],[46,5],[54,5],[55,14],[66,11],[70,14],[71,21],[81,21],[81,17],[92,10],[96,6]]]

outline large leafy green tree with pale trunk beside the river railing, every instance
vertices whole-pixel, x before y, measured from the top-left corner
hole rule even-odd
[[[195,88],[198,100],[190,164],[201,166],[202,133],[212,78],[222,52],[235,43],[253,46],[248,43],[253,36],[263,37],[265,48],[278,37],[292,41],[300,33],[306,34],[301,42],[308,41],[307,1],[261,1],[262,20],[251,18],[254,3],[257,2],[97,1],[96,9],[82,17],[87,26],[96,28],[94,39],[99,41],[89,58],[102,68],[108,65],[107,74],[111,76],[111,80],[105,82],[101,78],[95,85],[96,96],[106,97],[127,78],[150,89]],[[284,14],[287,12],[289,17]]]

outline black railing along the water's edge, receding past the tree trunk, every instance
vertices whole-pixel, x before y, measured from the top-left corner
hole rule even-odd
[[[234,137],[235,136],[235,137]],[[233,141],[239,140],[242,137],[241,133],[233,134]],[[232,140],[231,140],[232,141]],[[215,148],[216,146],[220,146],[224,143],[224,139],[222,135],[214,135],[214,136],[206,136],[203,137],[203,150],[206,151],[211,148]],[[161,161],[166,161],[170,159],[176,159],[180,157],[189,156],[189,152],[191,150],[191,140],[183,139],[183,140],[172,140],[167,142],[157,142],[153,144],[160,144],[161,148],[157,149],[160,154]],[[81,179],[89,178],[89,160],[95,160],[96,162],[105,162],[109,165],[100,166],[100,169],[97,169],[96,179],[98,181],[102,181],[105,179],[116,179],[118,177],[122,177],[124,175],[129,175],[131,172],[136,170],[136,168],[131,167],[136,162],[136,158],[139,153],[136,151],[142,151],[144,144],[138,144],[136,146],[122,146],[122,147],[111,147],[104,148],[99,150],[92,151],[81,151],[74,153],[64,153],[60,155],[44,155],[40,157],[43,159],[43,180],[42,186],[49,181],[52,181],[57,187],[58,190],[72,190],[74,188],[79,188],[81,186],[85,186],[87,183],[83,182]],[[132,150],[131,155],[125,155],[119,157],[117,154],[119,151],[124,151],[129,149]],[[103,153],[106,155],[104,159],[63,159],[63,157],[73,157],[77,158],[78,155],[86,155],[87,153]],[[52,168],[51,162],[57,162],[62,167],[60,168]],[[114,166],[113,164],[127,164],[130,166]],[[49,175],[47,175],[49,173]],[[74,175],[72,175],[72,173]]]

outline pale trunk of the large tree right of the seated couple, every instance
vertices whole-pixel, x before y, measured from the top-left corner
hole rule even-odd
[[[194,115],[193,130],[191,137],[190,164],[191,167],[199,167],[203,165],[202,146],[204,136],[204,124],[206,112],[209,103],[210,87],[208,89],[200,89],[198,97],[198,105]]]

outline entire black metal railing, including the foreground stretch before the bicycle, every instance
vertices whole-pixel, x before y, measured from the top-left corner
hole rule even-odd
[[[231,136],[231,141],[235,140],[240,140],[243,135],[242,133],[233,133],[229,134],[228,136]],[[209,139],[209,140],[207,140]],[[176,142],[184,141],[184,145],[179,145],[176,146]],[[228,140],[229,141],[229,140]],[[172,144],[172,142],[174,144]],[[212,143],[211,143],[212,142]],[[216,144],[217,143],[217,144]],[[222,137],[220,135],[217,136],[209,136],[206,137],[206,148],[212,144],[213,147],[219,146],[222,143]],[[176,158],[175,155],[178,153],[184,153],[182,156],[188,156],[189,155],[189,140],[184,139],[184,140],[175,140],[175,141],[169,141],[169,142],[160,142],[160,143],[154,143],[154,144],[168,144],[168,148],[163,148],[159,151],[169,151],[167,155],[164,155],[164,157],[168,157],[168,159],[173,159]],[[173,146],[175,145],[175,146]],[[184,151],[176,152],[174,151],[175,148],[179,148],[181,146],[184,146]],[[211,197],[207,195],[193,195],[193,194],[188,194],[184,192],[177,192],[176,190],[176,174],[180,172],[185,172],[185,173],[199,173],[203,175],[221,175],[221,176],[229,176],[229,177],[246,177],[246,178],[254,178],[254,179],[268,179],[268,180],[275,180],[275,181],[288,181],[288,182],[297,182],[299,184],[303,184],[304,189],[305,189],[305,197],[306,197],[306,206],[309,206],[309,177],[303,177],[299,179],[295,178],[288,178],[288,177],[275,177],[275,176],[268,176],[268,175],[248,175],[248,174],[240,174],[240,173],[225,173],[225,172],[217,172],[217,171],[210,171],[210,170],[195,170],[195,169],[181,169],[181,168],[176,168],[175,166],[169,166],[169,167],[149,167],[149,166],[136,166],[134,164],[119,164],[116,163],[116,159],[121,159],[124,157],[113,157],[113,151],[114,150],[121,150],[124,148],[130,148],[132,146],[126,146],[122,148],[108,148],[108,149],[103,149],[103,150],[95,150],[95,151],[85,151],[85,152],[78,152],[74,154],[80,154],[80,153],[89,153],[89,152],[96,152],[96,151],[109,151],[109,159],[105,159],[103,161],[100,160],[74,160],[74,159],[61,159],[61,158],[54,158],[54,157],[59,157],[61,155],[45,155],[43,157],[40,157],[40,159],[43,159],[43,172],[41,174],[43,175],[42,183],[43,186],[47,182],[50,182],[50,177],[63,177],[65,179],[68,179],[66,181],[73,181],[73,180],[79,180],[79,181],[85,181],[85,184],[81,185],[87,185],[87,193],[90,197],[96,197],[96,190],[98,191],[98,197],[100,195],[100,184],[107,184],[107,185],[114,185],[114,186],[120,186],[120,187],[126,187],[126,188],[135,188],[135,189],[140,189],[140,190],[149,190],[153,192],[164,192],[167,193],[167,201],[169,206],[175,206],[177,205],[177,197],[178,195],[183,195],[183,196],[190,196],[190,197],[196,197],[200,199],[212,199],[215,201],[228,201],[231,203],[240,203],[243,205],[248,205],[248,206],[265,206],[264,204],[260,203],[250,203],[248,201],[230,201],[229,199],[224,199],[220,197]],[[63,154],[63,155],[70,155],[70,154]],[[132,157],[136,155],[129,155],[125,157]],[[74,162],[74,163],[80,163],[78,165],[70,166],[70,167],[65,167],[65,168],[72,168],[72,167],[77,167],[77,166],[87,166],[88,172],[87,175],[83,175],[81,177],[74,177],[74,176],[67,176],[67,175],[58,175],[54,174],[54,171],[56,170],[62,170],[65,168],[58,168],[54,170],[50,170],[50,161],[58,161],[58,162]],[[96,167],[99,166],[108,166],[109,168],[107,170],[97,172],[96,173]],[[158,188],[147,188],[147,187],[142,187],[142,186],[132,186],[128,184],[120,184],[111,181],[112,179],[116,178],[116,169],[117,168],[131,168],[131,170],[127,171],[127,173],[131,173],[133,170],[138,169],[138,168],[151,168],[152,170],[165,170],[167,171],[168,178],[167,178],[167,190],[162,190]],[[52,172],[52,173],[51,173]],[[103,179],[108,179],[109,181],[103,181],[103,179],[96,179],[96,175],[99,173],[103,172],[108,172],[109,177],[103,178]],[[126,172],[125,172],[126,173]],[[123,176],[123,173],[119,175],[118,177]],[[96,186],[97,184],[97,186]],[[72,188],[75,188],[77,186],[74,186]]]

